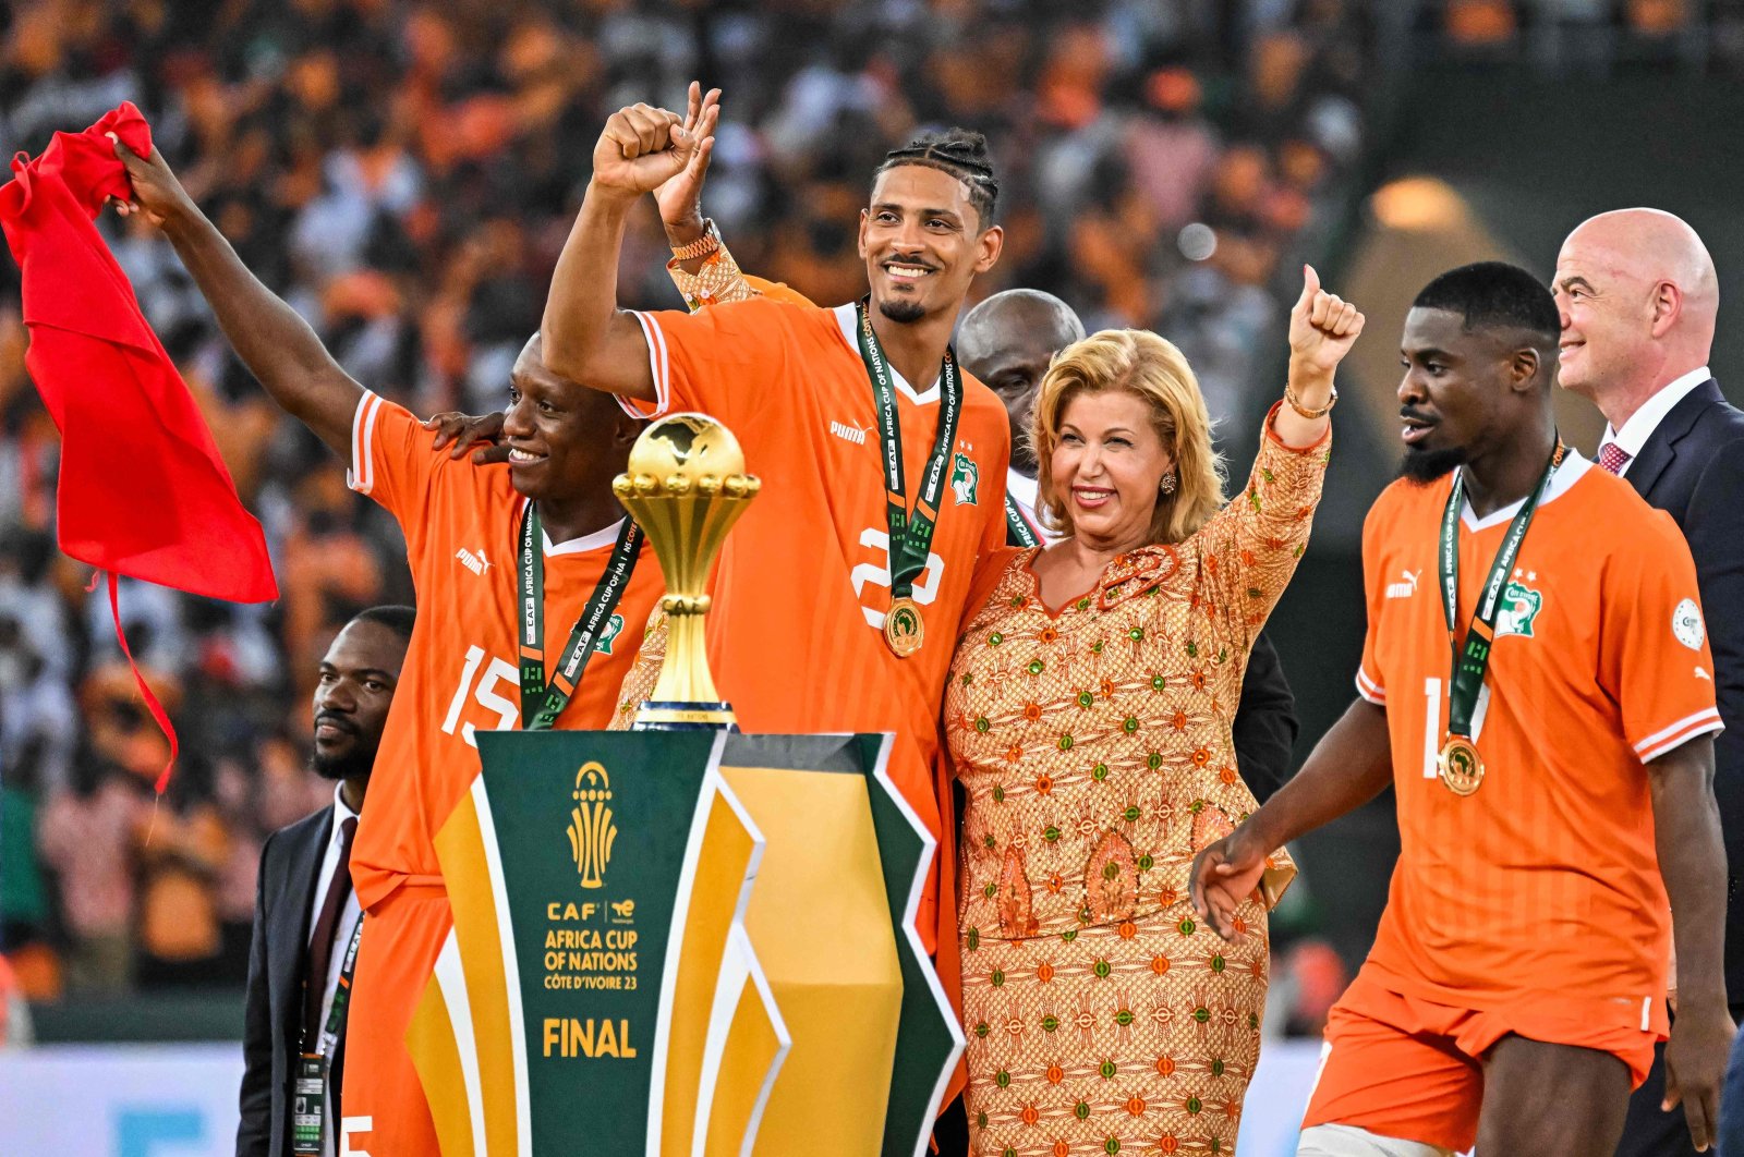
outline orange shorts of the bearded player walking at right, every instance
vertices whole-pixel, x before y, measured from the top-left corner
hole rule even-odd
[[[1325,1054],[1303,1129],[1343,1124],[1465,1152],[1477,1143],[1482,1056],[1516,1033],[1610,1052],[1634,1086],[1653,1065],[1659,1035],[1592,1025],[1542,1002],[1507,1011],[1458,1009],[1407,997],[1359,972],[1332,1005]]]

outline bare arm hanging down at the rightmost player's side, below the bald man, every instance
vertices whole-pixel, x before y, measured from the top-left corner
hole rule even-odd
[[[1678,1018],[1666,1045],[1666,1103],[1683,1101],[1690,1140],[1718,1136],[1720,1082],[1732,1051],[1727,1011],[1727,849],[1714,803],[1714,741],[1693,739],[1646,765],[1653,847],[1671,897]],[[1734,1108],[1737,1112],[1737,1108]]]

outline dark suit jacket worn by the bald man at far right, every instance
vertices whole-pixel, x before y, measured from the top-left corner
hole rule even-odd
[[[1727,730],[1714,741],[1714,796],[1725,829],[1727,991],[1744,1002],[1744,409],[1713,380],[1690,390],[1648,436],[1625,474],[1683,528],[1695,558],[1714,695]]]

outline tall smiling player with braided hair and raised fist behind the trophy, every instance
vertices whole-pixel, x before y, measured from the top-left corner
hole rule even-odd
[[[896,732],[891,775],[938,833],[944,678],[975,559],[1005,542],[1005,408],[950,352],[1003,240],[985,143],[952,131],[881,166],[863,303],[619,310],[630,207],[708,148],[664,110],[610,117],[546,303],[546,362],[635,413],[703,409],[732,429],[764,491],[715,577],[722,694],[748,732]],[[954,943],[954,927],[937,936],[937,889],[928,901],[923,937]]]

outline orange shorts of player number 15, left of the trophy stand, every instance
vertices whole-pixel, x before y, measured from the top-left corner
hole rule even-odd
[[[401,887],[364,913],[358,943],[351,1012],[345,1018],[345,1122],[368,1127],[351,1134],[351,1150],[370,1157],[434,1157],[431,1120],[406,1028],[436,972],[436,957],[453,927],[448,894],[439,887]]]

